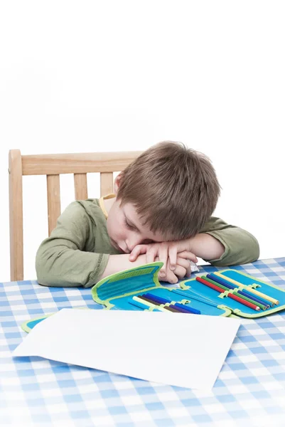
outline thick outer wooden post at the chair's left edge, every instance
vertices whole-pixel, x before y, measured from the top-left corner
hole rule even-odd
[[[9,219],[11,281],[23,280],[23,185],[21,151],[9,151]]]

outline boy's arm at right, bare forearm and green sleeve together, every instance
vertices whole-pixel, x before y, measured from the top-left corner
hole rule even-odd
[[[222,253],[219,253],[217,244],[223,246]],[[214,249],[217,249],[216,253]],[[238,265],[252,263],[259,258],[259,243],[248,231],[212,216],[200,233],[191,239],[191,251],[213,265]]]

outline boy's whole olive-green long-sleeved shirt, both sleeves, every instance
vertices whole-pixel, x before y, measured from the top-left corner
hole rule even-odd
[[[259,244],[252,234],[212,216],[201,233],[217,238],[225,252],[213,265],[251,263],[259,257]],[[38,283],[47,286],[95,285],[104,272],[109,255],[119,254],[110,243],[107,219],[98,199],[74,201],[58,218],[55,229],[38,248]]]

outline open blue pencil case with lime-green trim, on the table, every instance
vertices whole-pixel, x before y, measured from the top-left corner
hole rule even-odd
[[[198,310],[201,315],[212,316],[234,315],[254,318],[267,316],[285,308],[284,290],[240,271],[227,269],[213,273],[216,278],[227,280],[235,285],[232,286],[234,289],[222,289],[222,292],[217,292],[200,283],[197,280],[200,276],[183,280],[175,286],[161,285],[158,281],[158,271],[162,265],[163,263],[158,261],[109,275],[92,287],[92,298],[98,304],[104,305],[104,310],[166,311],[167,307],[178,304],[188,310]],[[229,294],[242,295],[238,291],[244,294],[247,292],[245,295],[249,296],[249,300],[252,300],[252,297],[255,300],[261,299],[264,307],[257,311],[229,297]],[[163,298],[168,302],[160,305],[146,305],[147,303],[144,301],[138,302],[137,298],[146,294]],[[264,300],[264,295],[271,300]],[[24,331],[29,332],[45,317],[48,315],[28,320],[21,327]]]

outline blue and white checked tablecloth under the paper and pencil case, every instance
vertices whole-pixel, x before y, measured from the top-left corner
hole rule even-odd
[[[234,268],[285,288],[285,258]],[[210,265],[200,269],[215,270]],[[283,312],[242,320],[210,392],[39,357],[11,357],[26,336],[22,322],[63,307],[86,306],[101,309],[90,288],[45,288],[29,280],[0,284],[0,426],[285,426]],[[87,327],[92,339],[96,325]]]

